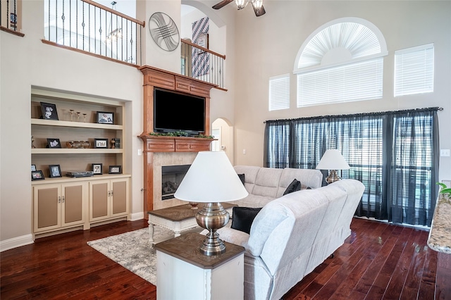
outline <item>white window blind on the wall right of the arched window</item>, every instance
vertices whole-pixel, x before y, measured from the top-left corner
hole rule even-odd
[[[395,96],[434,91],[434,45],[395,51]]]

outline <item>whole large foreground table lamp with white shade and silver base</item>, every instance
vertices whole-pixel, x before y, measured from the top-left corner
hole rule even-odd
[[[216,232],[225,226],[229,213],[220,202],[236,201],[248,193],[223,151],[201,151],[174,194],[176,199],[206,203],[196,214],[197,224],[209,230],[200,247],[202,254],[216,256],[226,252],[226,245]]]

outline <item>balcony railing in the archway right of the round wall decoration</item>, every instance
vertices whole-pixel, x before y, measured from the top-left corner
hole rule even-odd
[[[217,85],[218,89],[224,89],[225,55],[182,39],[180,57],[182,75],[209,82]]]

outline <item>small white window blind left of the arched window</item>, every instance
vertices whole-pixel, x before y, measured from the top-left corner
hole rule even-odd
[[[269,78],[269,111],[290,108],[290,74]]]

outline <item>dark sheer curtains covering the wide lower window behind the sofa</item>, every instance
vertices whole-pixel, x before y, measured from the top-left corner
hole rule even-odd
[[[438,179],[438,108],[268,120],[264,165],[316,168],[327,149],[366,189],[356,215],[431,225]],[[323,177],[328,170],[321,170]],[[326,182],[323,182],[326,185]]]

